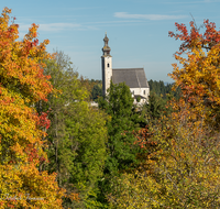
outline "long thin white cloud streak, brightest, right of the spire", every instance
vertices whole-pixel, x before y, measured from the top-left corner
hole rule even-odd
[[[129,14],[128,12],[116,12],[114,16],[122,19],[144,19],[144,20],[176,20],[176,19],[187,18],[187,15]]]

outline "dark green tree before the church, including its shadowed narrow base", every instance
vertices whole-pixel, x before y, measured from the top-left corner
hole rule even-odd
[[[108,157],[105,165],[105,176],[99,182],[99,201],[107,208],[107,194],[111,193],[112,180],[125,170],[131,170],[138,165],[136,154],[140,152],[134,144],[134,132],[140,123],[144,123],[143,117],[136,112],[130,88],[125,84],[113,85],[106,99],[99,98],[99,108],[105,110],[111,120],[108,128]],[[105,205],[106,204],[106,205]]]

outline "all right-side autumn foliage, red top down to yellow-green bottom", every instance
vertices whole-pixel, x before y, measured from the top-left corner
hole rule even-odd
[[[138,143],[150,151],[134,174],[116,178],[109,200],[116,208],[219,208],[219,31],[205,21],[200,33],[176,23],[184,43],[170,76],[182,89],[172,114],[150,124]],[[207,51],[207,52],[205,52]],[[183,53],[187,52],[185,55]],[[148,146],[152,144],[153,146]]]

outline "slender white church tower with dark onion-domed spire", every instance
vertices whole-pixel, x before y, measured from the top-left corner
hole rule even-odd
[[[103,38],[105,46],[102,47],[103,55],[101,56],[102,68],[102,95],[107,95],[107,89],[110,88],[110,80],[112,79],[112,57],[110,55],[111,48],[108,45],[109,38]]]

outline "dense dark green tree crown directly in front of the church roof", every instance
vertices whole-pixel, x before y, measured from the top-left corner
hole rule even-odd
[[[99,108],[111,117],[108,121],[109,156],[106,162],[106,173],[116,173],[124,169],[135,162],[136,148],[133,145],[135,138],[132,132],[138,128],[134,120],[133,98],[130,88],[125,84],[113,85],[111,82],[107,98],[99,99]]]

